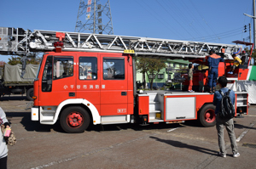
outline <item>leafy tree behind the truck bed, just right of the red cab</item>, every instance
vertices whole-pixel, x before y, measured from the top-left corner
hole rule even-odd
[[[154,82],[155,76],[157,76],[160,70],[163,68],[166,68],[166,64],[162,59],[148,59],[148,58],[137,59],[137,70],[143,73],[143,75],[147,74],[150,82],[151,90],[153,89],[153,82]],[[145,81],[145,78],[144,78],[144,81]]]

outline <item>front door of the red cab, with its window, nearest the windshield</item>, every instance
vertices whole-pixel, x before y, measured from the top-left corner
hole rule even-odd
[[[75,99],[76,78],[73,55],[48,55],[39,80],[38,103],[59,105],[66,99]]]

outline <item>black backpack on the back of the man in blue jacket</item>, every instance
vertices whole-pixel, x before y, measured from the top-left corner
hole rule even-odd
[[[231,119],[235,116],[234,105],[230,99],[230,89],[227,93],[223,93],[221,90],[218,91],[221,96],[220,108],[218,111],[218,115],[220,119]]]

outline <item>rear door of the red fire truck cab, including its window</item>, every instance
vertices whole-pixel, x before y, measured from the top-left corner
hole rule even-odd
[[[127,115],[127,56],[101,55],[101,115]]]

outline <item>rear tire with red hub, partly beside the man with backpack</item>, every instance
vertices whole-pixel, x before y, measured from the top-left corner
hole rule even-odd
[[[204,105],[198,117],[203,127],[214,127],[216,125],[215,106],[213,104]]]

